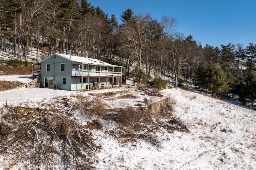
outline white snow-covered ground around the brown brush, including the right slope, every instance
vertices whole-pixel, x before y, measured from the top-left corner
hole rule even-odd
[[[0,80],[13,78],[22,82],[30,81],[29,76],[2,76]],[[144,98],[140,92],[132,92],[138,96],[135,102]],[[56,96],[71,98],[74,94],[90,98],[88,92],[18,88],[0,92],[0,107],[6,104],[6,100],[11,106],[27,102],[37,106],[41,100],[46,99],[45,103]],[[117,124],[102,123],[102,129],[89,129],[96,146],[102,147],[96,153],[98,161],[92,164],[96,169],[255,169],[256,111],[238,106],[236,102],[231,104],[181,89],[164,89],[161,94],[176,101],[172,117],[182,121],[189,132],[168,133],[160,124],[160,130],[151,134],[158,139],[157,146],[142,139],[120,143],[113,135],[106,134],[118,129]],[[127,99],[125,103],[128,106],[132,99]],[[114,101],[116,107],[122,107],[125,103]],[[80,112],[75,111],[70,119],[76,119],[82,125],[90,121],[79,114]],[[162,120],[165,121],[168,119]],[[5,156],[5,159],[10,158]],[[0,165],[0,168],[4,167],[6,165]],[[16,166],[12,166],[10,169],[15,168]]]

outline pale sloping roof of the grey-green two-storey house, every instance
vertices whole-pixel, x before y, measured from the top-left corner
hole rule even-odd
[[[104,61],[100,61],[98,59],[92,59],[92,58],[85,58],[85,57],[79,57],[79,56],[74,56],[71,55],[65,55],[65,54],[59,54],[59,53],[54,53],[53,55],[58,55],[60,57],[63,57],[69,61],[73,61],[73,62],[77,62],[77,63],[86,63],[86,64],[94,64],[94,65],[102,65],[102,66],[116,66],[116,65],[112,65],[109,63],[106,63]],[[51,55],[50,57],[52,57],[53,55]],[[48,59],[49,57],[47,57],[46,59]],[[44,60],[46,60],[44,59]],[[42,60],[42,61],[44,61]],[[41,63],[42,61],[40,61],[39,63]],[[38,64],[38,63],[35,63]],[[116,66],[116,67],[122,67],[122,66]]]

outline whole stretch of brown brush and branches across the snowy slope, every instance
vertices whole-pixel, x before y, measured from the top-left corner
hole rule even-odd
[[[78,100],[81,102],[76,102]],[[111,136],[122,144],[140,139],[154,147],[161,147],[155,136],[160,128],[169,133],[188,132],[184,124],[172,117],[171,105],[175,104],[172,99],[161,102],[159,113],[149,112],[145,107],[110,111],[101,98],[88,100],[82,94],[58,97],[54,101],[51,104],[42,101],[41,106],[35,108],[4,107],[0,154],[33,161],[24,167],[27,169],[92,169],[92,162],[98,160],[96,151],[101,149],[95,144],[92,131]],[[150,109],[153,107],[159,106],[152,105]],[[157,111],[156,108],[152,110]],[[72,119],[76,114],[84,119]],[[115,129],[108,128],[110,122],[115,124]],[[61,167],[59,162],[62,162]]]

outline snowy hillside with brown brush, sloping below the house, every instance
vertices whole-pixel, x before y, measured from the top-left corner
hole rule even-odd
[[[22,79],[17,77],[25,82]],[[132,95],[113,101],[89,94],[101,90],[22,87],[0,92],[0,98],[16,94],[16,99],[6,99],[13,102],[3,100],[0,106],[0,168],[256,167],[254,110],[171,86],[160,91],[168,99],[160,109],[153,105],[146,109],[138,105],[146,95],[142,90],[123,88]]]

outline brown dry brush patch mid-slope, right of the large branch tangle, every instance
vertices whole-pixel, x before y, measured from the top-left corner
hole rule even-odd
[[[164,128],[169,133],[174,131],[189,132],[186,126],[172,117],[173,106],[176,104],[172,98],[167,98],[148,107],[130,107],[109,109],[101,99],[82,100],[80,109],[84,109],[90,115],[87,126],[104,131],[105,135],[111,135],[120,143],[132,142],[138,139],[148,141],[154,146],[160,147],[160,142],[155,133]],[[101,122],[101,123],[100,123]],[[104,122],[104,123],[102,123]],[[117,129],[104,128],[104,124],[114,122]]]

